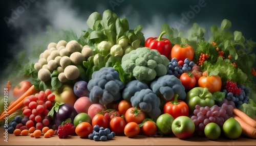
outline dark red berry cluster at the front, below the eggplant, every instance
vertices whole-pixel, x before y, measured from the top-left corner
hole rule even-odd
[[[75,129],[76,128],[73,126],[73,124],[65,121],[63,125],[60,125],[58,127],[58,131],[57,131],[58,137],[66,138],[69,135],[75,135],[76,134]]]

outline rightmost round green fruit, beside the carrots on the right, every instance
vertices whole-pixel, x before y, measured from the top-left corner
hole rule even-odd
[[[242,134],[242,127],[236,119],[230,117],[224,122],[222,131],[227,138],[236,139]]]

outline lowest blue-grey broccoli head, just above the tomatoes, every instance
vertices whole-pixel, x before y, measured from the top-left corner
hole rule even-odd
[[[139,107],[143,112],[152,118],[157,118],[161,114],[160,99],[151,89],[142,89],[131,98],[133,107]]]

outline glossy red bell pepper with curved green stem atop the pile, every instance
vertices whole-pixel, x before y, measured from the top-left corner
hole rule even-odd
[[[145,47],[156,49],[161,55],[164,55],[169,59],[170,52],[172,50],[172,43],[170,43],[168,39],[162,38],[165,33],[166,31],[163,31],[158,38],[147,38],[145,41]]]

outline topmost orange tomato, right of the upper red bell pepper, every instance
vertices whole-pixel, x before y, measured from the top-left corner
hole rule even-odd
[[[194,58],[194,49],[188,44],[176,44],[170,52],[170,58],[177,58],[178,60],[184,61],[188,58],[190,61]]]

